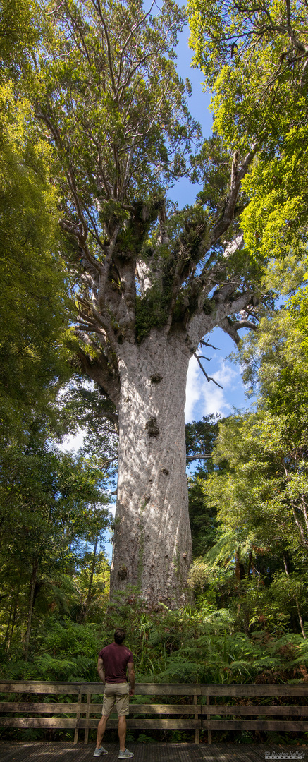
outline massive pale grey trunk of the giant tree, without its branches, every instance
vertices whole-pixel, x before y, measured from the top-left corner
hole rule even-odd
[[[183,333],[152,329],[122,344],[119,479],[110,594],[136,585],[148,604],[191,596],[184,407],[190,352]]]

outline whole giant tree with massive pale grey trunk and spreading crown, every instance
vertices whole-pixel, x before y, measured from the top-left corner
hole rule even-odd
[[[235,341],[256,327],[259,264],[238,222],[256,149],[230,158],[213,138],[189,164],[199,130],[173,60],[185,21],[173,0],[160,12],[65,0],[44,13],[25,76],[61,194],[73,344],[119,431],[111,591],[132,584],[149,604],[179,605],[192,559],[186,373],[214,326]],[[167,187],[189,168],[206,187],[180,212]]]

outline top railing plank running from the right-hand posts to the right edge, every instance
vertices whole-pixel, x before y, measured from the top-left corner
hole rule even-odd
[[[202,696],[308,696],[308,684],[237,684],[221,685],[203,683],[200,685]]]

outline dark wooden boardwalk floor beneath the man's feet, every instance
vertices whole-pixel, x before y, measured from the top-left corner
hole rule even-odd
[[[265,752],[283,752],[293,762],[308,762],[308,746],[270,746],[268,744],[141,744],[129,743],[134,762],[264,762]],[[117,760],[118,744],[105,744],[108,756]],[[48,741],[0,742],[1,762],[92,762],[94,744],[49,743]],[[266,754],[267,756],[267,754]],[[285,757],[284,757],[285,759]]]

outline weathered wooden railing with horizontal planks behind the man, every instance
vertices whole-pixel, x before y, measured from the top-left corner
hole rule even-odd
[[[2,700],[2,696],[6,694],[9,694],[9,700]],[[14,701],[16,694],[18,700]],[[31,694],[36,697],[36,700],[32,702],[29,700]],[[40,703],[37,701],[37,696],[42,694],[46,700]],[[101,716],[102,694],[101,683],[0,681],[0,727],[52,730],[71,728],[75,731],[75,744],[78,742],[79,730],[84,729],[84,743],[87,744],[89,730],[97,728]],[[21,700],[22,696],[26,696],[26,700]],[[97,700],[92,702],[92,696],[100,696],[100,703],[97,703]],[[196,744],[199,742],[199,732],[202,728],[208,731],[209,744],[211,744],[212,730],[308,732],[306,719],[308,684],[304,683],[291,685],[137,683],[135,696],[153,698],[176,696],[176,703],[135,703],[134,697],[129,704],[127,719],[129,728],[195,730]],[[72,697],[76,697],[76,700],[74,701]],[[233,703],[238,697],[253,703]],[[268,699],[272,699],[271,704],[259,703],[260,700],[264,702]],[[301,703],[300,705],[274,703],[274,700],[281,699],[300,699]],[[221,701],[223,703],[220,703]],[[40,717],[33,715],[40,715]],[[141,715],[146,717],[143,718]],[[107,727],[116,728],[117,719],[111,716]]]

